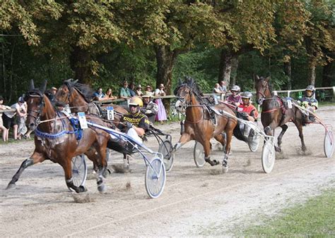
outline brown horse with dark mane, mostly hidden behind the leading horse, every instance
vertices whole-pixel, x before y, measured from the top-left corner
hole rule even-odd
[[[85,84],[78,83],[78,80],[65,80],[59,87],[55,99],[69,104],[71,113],[85,112],[88,114],[100,115],[98,106],[92,101],[93,90]],[[116,104],[105,104],[102,107],[112,106],[114,108],[113,123],[118,123],[122,115],[129,113],[128,108]]]

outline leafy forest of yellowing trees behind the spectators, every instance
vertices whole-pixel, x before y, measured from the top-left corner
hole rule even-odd
[[[48,80],[93,88],[122,80],[165,84],[193,77],[253,90],[335,85],[334,0],[63,1],[0,0],[0,95],[16,101]]]

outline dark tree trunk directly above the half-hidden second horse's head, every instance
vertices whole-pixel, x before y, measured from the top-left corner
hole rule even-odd
[[[72,47],[70,55],[71,70],[74,70],[74,79],[83,84],[90,84],[90,54],[78,46]]]

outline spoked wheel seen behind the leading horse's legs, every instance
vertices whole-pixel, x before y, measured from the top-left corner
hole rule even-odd
[[[74,185],[79,187],[83,186],[86,182],[87,176],[87,166],[85,161],[85,156],[81,154],[80,156],[75,156],[71,160],[72,168],[72,180]]]

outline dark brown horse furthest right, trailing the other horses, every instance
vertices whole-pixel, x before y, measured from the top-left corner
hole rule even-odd
[[[261,105],[261,124],[265,134],[273,136],[274,129],[281,127],[281,133],[277,138],[278,146],[275,146],[276,151],[281,151],[281,140],[288,129],[286,123],[292,121],[298,128],[302,151],[306,151],[304,135],[302,134],[302,126],[305,123],[301,111],[295,106],[288,108],[284,99],[274,96],[269,79],[270,77],[256,76],[256,100],[257,104]]]

